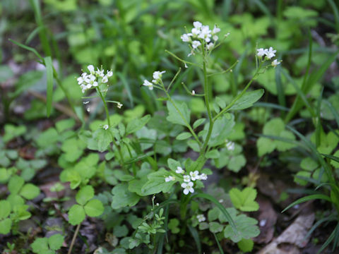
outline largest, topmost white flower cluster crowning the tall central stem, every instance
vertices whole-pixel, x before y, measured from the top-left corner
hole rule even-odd
[[[219,39],[217,34],[220,32],[220,28],[218,28],[216,25],[214,26],[213,30],[210,30],[208,25],[203,25],[198,21],[195,21],[193,25],[194,28],[192,28],[191,32],[186,33],[181,37],[183,42],[191,43],[192,50],[189,56],[194,54],[194,50],[197,49],[203,41],[207,43],[206,49],[213,49],[215,42]],[[210,42],[211,38],[214,42]]]

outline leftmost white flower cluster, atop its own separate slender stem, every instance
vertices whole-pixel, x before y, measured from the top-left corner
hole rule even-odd
[[[92,87],[97,87],[99,82],[107,83],[108,78],[112,77],[113,75],[112,71],[107,71],[105,75],[104,70],[100,70],[99,68],[97,68],[97,71],[95,71],[93,65],[89,65],[87,68],[90,73],[82,73],[81,76],[77,78],[78,84],[80,85],[83,93],[85,90],[88,90]]]

